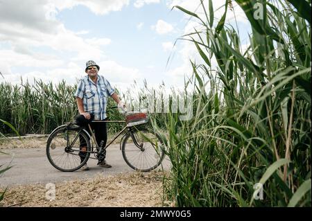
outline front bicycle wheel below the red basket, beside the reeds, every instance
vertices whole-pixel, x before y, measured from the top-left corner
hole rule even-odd
[[[164,146],[158,137],[148,130],[132,131],[125,135],[122,154],[130,168],[148,172],[162,163]]]

